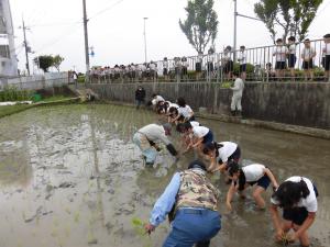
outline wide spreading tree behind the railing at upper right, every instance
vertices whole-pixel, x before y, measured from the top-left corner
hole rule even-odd
[[[289,34],[301,42],[321,3],[322,0],[261,0],[254,4],[254,12],[266,24],[274,43],[276,35],[286,41]]]

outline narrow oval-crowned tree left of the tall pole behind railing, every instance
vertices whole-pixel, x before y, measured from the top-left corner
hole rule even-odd
[[[218,34],[218,15],[213,0],[188,0],[185,8],[187,19],[179,26],[197,53],[204,53],[209,42],[215,43]]]

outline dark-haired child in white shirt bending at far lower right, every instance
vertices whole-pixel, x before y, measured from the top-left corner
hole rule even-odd
[[[307,231],[318,210],[318,191],[310,179],[290,177],[272,195],[271,214],[278,242],[299,240],[301,247],[310,246]],[[278,213],[283,209],[283,218]],[[289,231],[294,229],[290,234]]]

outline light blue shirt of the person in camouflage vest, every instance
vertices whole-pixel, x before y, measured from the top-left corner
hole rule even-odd
[[[204,170],[194,168],[193,169],[196,172],[202,172]],[[161,195],[161,198],[156,201],[154,209],[151,213],[150,223],[153,226],[158,226],[162,222],[166,220],[166,215],[170,212],[173,205],[176,201],[176,195],[178,193],[178,190],[180,189],[180,173],[176,172],[168,186],[166,187],[164,193]]]

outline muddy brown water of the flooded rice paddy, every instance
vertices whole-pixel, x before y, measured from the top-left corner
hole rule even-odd
[[[172,175],[194,154],[173,165],[164,151],[153,169],[145,169],[131,137],[155,121],[150,112],[113,105],[40,108],[1,119],[0,246],[162,246],[167,223],[148,237],[136,222],[147,221]],[[270,166],[279,181],[293,175],[312,178],[320,191],[312,243],[330,246],[329,141],[200,122],[217,139],[238,142],[243,162]],[[228,214],[223,178],[212,180],[221,191],[223,224],[211,246],[278,246],[268,213],[257,212],[248,197],[235,199],[234,213]]]

